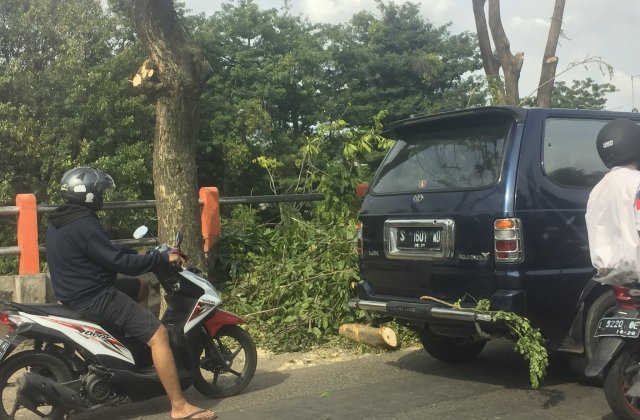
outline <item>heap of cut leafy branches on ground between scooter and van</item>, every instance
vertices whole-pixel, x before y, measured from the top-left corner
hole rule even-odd
[[[357,278],[353,224],[291,217],[270,229],[266,252],[249,252],[247,271],[228,286],[226,305],[249,318],[261,346],[309,348],[352,319],[349,284]]]

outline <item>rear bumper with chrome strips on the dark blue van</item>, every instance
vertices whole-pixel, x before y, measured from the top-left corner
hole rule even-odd
[[[437,320],[493,322],[491,315],[474,312],[472,310],[445,308],[433,303],[380,302],[354,298],[349,301],[349,307],[369,312],[381,312],[395,318],[424,322]]]

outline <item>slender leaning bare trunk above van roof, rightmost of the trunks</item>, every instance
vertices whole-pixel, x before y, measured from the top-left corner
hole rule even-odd
[[[542,59],[538,95],[536,96],[536,106],[541,108],[548,108],[551,104],[551,93],[553,92],[556,68],[558,67],[556,48],[562,31],[564,4],[565,0],[556,0],[553,8],[553,17],[551,18],[551,26],[549,27],[549,35],[547,36],[547,45]]]

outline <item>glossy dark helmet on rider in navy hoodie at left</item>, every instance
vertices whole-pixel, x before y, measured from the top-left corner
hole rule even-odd
[[[67,171],[60,184],[60,195],[66,203],[81,204],[94,211],[102,208],[104,191],[116,186],[108,173],[87,167]]]

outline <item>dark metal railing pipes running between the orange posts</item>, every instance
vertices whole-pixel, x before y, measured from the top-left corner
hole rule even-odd
[[[262,204],[262,203],[291,203],[291,202],[306,202],[306,201],[321,201],[324,198],[322,194],[285,194],[285,195],[255,195],[255,196],[239,196],[239,197],[220,197],[219,204],[224,205],[238,205],[238,204]],[[200,200],[200,205],[202,205]],[[102,207],[103,210],[125,210],[125,209],[144,209],[155,208],[155,200],[138,200],[138,201],[109,201],[105,202]],[[38,214],[51,213],[58,205],[53,204],[41,204],[38,205]],[[4,206],[0,207],[1,216],[17,216],[20,213],[20,209],[17,206]],[[155,244],[154,239],[142,238],[142,239],[116,239],[113,241],[119,245],[125,246],[147,246]],[[39,246],[40,253],[44,253],[44,245]],[[5,246],[0,247],[0,257],[2,256],[16,256],[20,255],[20,247],[18,246]]]

